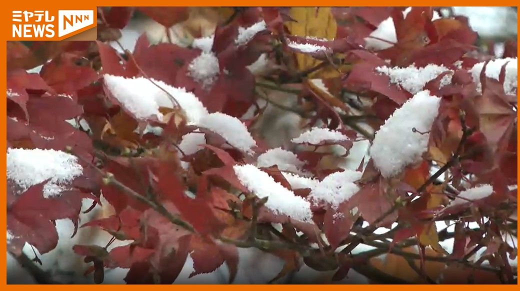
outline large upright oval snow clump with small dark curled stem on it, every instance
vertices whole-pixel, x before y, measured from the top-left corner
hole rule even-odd
[[[440,98],[424,90],[415,94],[375,133],[370,156],[383,177],[391,177],[421,161],[430,129],[438,114]],[[415,130],[414,130],[415,128]]]

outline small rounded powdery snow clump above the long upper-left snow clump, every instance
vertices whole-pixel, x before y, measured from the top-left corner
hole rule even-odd
[[[208,89],[213,85],[220,73],[218,59],[213,52],[202,52],[197,58],[194,58],[188,65],[188,74],[193,79],[202,84],[204,89]]]

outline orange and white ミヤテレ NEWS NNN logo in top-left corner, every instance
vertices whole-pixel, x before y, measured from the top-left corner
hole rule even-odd
[[[95,23],[94,10],[13,10],[12,37],[61,40],[74,32],[94,28]]]

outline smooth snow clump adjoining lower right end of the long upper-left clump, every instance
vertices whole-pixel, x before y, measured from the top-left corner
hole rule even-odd
[[[236,117],[215,112],[202,117],[199,126],[212,130],[222,136],[231,146],[249,154],[256,146],[256,141],[248,128]]]

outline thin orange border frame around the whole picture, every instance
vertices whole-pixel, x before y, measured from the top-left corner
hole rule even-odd
[[[517,3],[517,4],[514,4]],[[309,0],[260,0],[260,1],[254,1],[254,0],[220,0],[218,2],[210,1],[210,0],[177,0],[175,2],[168,1],[168,0],[160,0],[160,1],[153,1],[153,3],[150,3],[150,1],[143,1],[143,0],[95,0],[88,4],[85,3],[78,3],[77,5],[74,5],[74,3],[70,1],[46,1],[44,4],[41,1],[36,0],[23,0],[19,3],[12,3],[7,2],[5,3],[4,8],[2,11],[0,11],[0,32],[2,33],[2,45],[0,45],[0,56],[6,56],[6,39],[10,39],[10,18],[11,18],[11,11],[12,10],[19,10],[19,9],[34,9],[38,7],[44,7],[45,9],[92,9],[93,6],[215,6],[215,4],[219,4],[220,6],[347,6],[346,4],[350,4],[349,6],[516,6],[518,7],[518,2],[516,1],[509,1],[509,0],[495,0],[493,2],[490,1],[468,1],[468,0],[453,0],[453,1],[402,1],[402,0],[394,0],[392,2],[388,1],[381,1],[381,0],[370,0],[370,1],[363,1],[360,3],[348,3],[345,1],[331,1],[331,0],[321,0],[319,2],[317,1],[309,1]],[[318,5],[317,5],[318,4]],[[1,58],[2,61],[2,68],[1,68],[1,74],[0,76],[0,84],[2,85],[2,88],[6,88],[6,59]],[[518,97],[517,97],[518,98]],[[2,112],[6,112],[6,103],[0,102],[1,110]],[[518,113],[517,113],[518,114]],[[2,125],[2,134],[4,137],[6,137],[6,120],[0,119],[0,124]],[[6,138],[0,139],[2,151],[6,151]],[[517,149],[518,150],[518,149]],[[0,155],[0,167],[2,167],[2,170],[6,171],[6,156]],[[520,164],[517,161],[517,168]],[[517,174],[518,175],[518,174]],[[520,175],[519,175],[520,178]],[[1,181],[2,189],[6,189],[6,180],[2,179]],[[6,206],[6,200],[0,199],[2,205],[4,207]],[[5,208],[4,208],[5,209]],[[520,208],[518,208],[520,209]],[[0,225],[6,225],[6,212],[2,211],[0,214]],[[32,288],[30,285],[7,285],[7,270],[6,270],[6,264],[7,264],[7,257],[5,256],[7,254],[4,253],[4,250],[6,250],[6,245],[2,244],[0,247],[2,250],[0,251],[0,261],[3,261],[4,263],[1,264],[0,268],[0,276],[2,278],[2,285],[6,286],[8,289],[17,289],[22,290],[24,288]],[[73,285],[74,288],[79,289],[86,289],[86,288],[92,288],[93,285]],[[123,286],[123,285],[115,285],[115,286]],[[243,288],[246,286],[246,288],[250,290],[262,290],[265,288],[263,285],[175,285],[175,287],[172,286],[164,286],[164,285],[158,285],[154,286],[153,288],[180,288],[185,290],[204,290],[205,288],[209,287],[213,290],[229,290],[229,289],[235,289],[238,290],[240,288]],[[321,285],[298,285],[298,286],[291,286],[291,285],[273,285],[269,288],[277,289],[277,290],[314,290],[315,288],[320,288]],[[382,285],[356,285],[355,288],[361,288],[363,290],[377,290],[376,288],[380,288]],[[515,287],[516,286],[516,287]],[[64,290],[65,288],[68,288],[67,286],[40,286],[37,287],[40,290],[55,290],[56,288]],[[103,290],[113,290],[112,285],[98,285],[95,288],[103,289]],[[125,288],[126,290],[140,290],[142,288],[141,286],[134,286],[134,285],[128,285],[124,287],[116,287],[116,288]],[[340,290],[342,288],[348,288],[344,285],[326,285],[326,288],[330,288],[332,290]],[[385,289],[415,289],[417,286],[415,285],[384,285]],[[428,290],[433,290],[435,285],[423,285],[421,288],[425,288]],[[464,290],[478,290],[478,289],[488,289],[490,286],[487,285],[460,285],[457,286],[459,289]],[[512,290],[514,288],[517,288],[517,285],[501,285],[500,288],[502,290]]]

